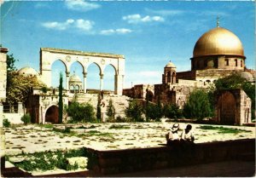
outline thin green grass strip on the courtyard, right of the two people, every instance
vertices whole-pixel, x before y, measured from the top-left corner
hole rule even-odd
[[[224,127],[214,127],[212,125],[201,125],[199,129],[215,129],[218,130],[219,134],[238,134],[242,132],[252,132],[247,129],[236,129],[236,128],[224,128]]]

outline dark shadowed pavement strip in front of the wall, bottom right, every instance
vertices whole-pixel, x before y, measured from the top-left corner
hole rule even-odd
[[[255,177],[254,161],[228,161],[212,164],[198,164],[172,169],[148,170],[142,172],[108,175],[112,177]]]

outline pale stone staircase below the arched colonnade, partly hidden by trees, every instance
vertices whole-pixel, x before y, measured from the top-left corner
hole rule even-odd
[[[69,101],[74,100],[74,95],[70,95],[68,100]],[[98,103],[98,95],[97,94],[77,94],[76,100],[79,103],[88,102],[92,106],[94,106],[94,108],[96,109],[96,106]],[[131,100],[131,98],[125,95],[113,95],[113,94],[103,95],[102,102],[105,103],[105,106],[102,106],[102,112],[107,112],[109,100],[112,100],[113,102],[113,106],[115,109],[115,117],[118,117],[118,116],[125,117],[125,109],[126,107],[129,106],[129,100]]]

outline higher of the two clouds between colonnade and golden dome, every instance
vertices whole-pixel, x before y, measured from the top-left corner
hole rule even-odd
[[[164,21],[165,19],[161,16],[142,16],[140,14],[129,14],[123,17],[129,24],[145,23],[152,21]]]

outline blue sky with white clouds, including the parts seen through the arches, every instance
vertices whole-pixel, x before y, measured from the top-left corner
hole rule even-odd
[[[243,43],[247,68],[255,68],[253,1],[5,1],[1,43],[19,60],[18,68],[37,71],[41,47],[125,55],[124,87],[130,88],[131,83],[161,83],[169,60],[178,72],[189,71],[196,41],[216,27],[218,15],[220,26]],[[52,69],[57,86],[64,66],[56,61]],[[72,71],[82,78],[78,63]],[[104,89],[113,89],[113,68],[104,73]],[[88,68],[87,85],[99,88],[96,65]]]

